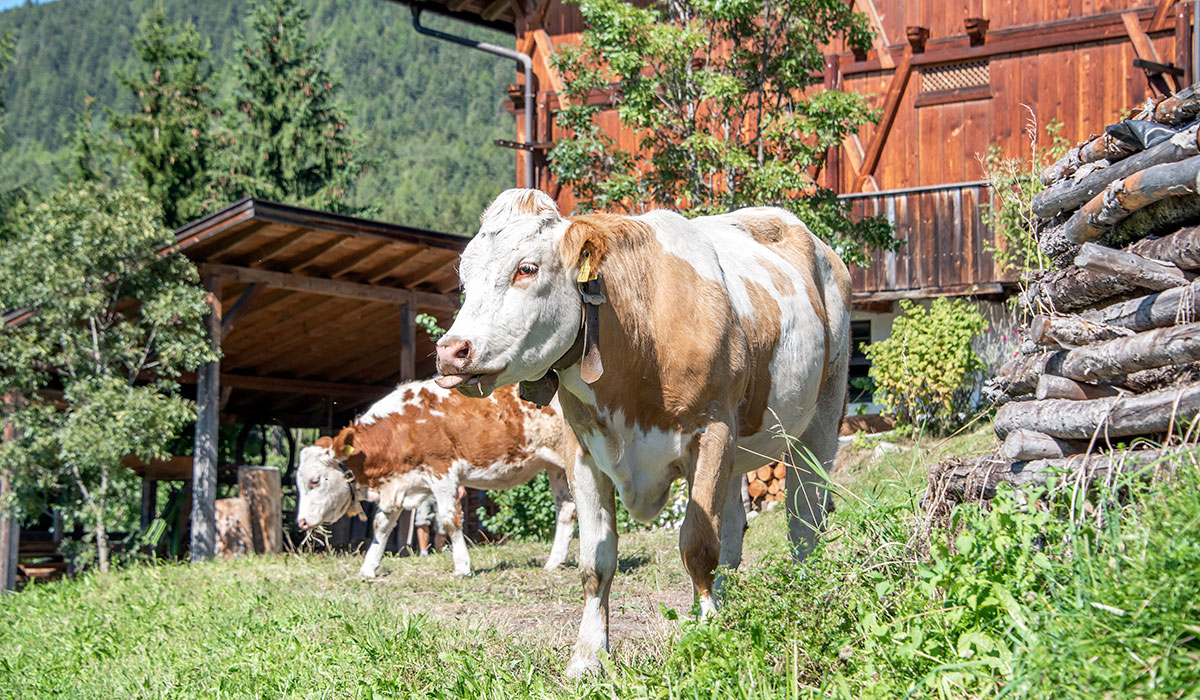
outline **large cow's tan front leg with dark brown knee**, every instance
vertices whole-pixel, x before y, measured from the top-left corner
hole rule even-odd
[[[692,593],[700,600],[701,620],[716,610],[713,572],[720,562],[721,516],[733,469],[732,425],[732,420],[718,418],[700,435],[691,495],[679,528],[679,554],[691,576]]]

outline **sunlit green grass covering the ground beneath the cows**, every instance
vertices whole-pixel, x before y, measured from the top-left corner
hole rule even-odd
[[[928,551],[925,467],[986,430],[835,473],[829,534],[798,566],[780,510],[751,521],[718,621],[683,622],[674,532],[622,536],[607,674],[562,669],[582,593],[547,545],[388,558],[139,566],[0,599],[0,698],[1186,698],[1200,688],[1200,475],[1184,465],[1103,519],[1061,501],[959,508]],[[1128,496],[1129,489],[1126,489]],[[678,618],[677,618],[678,614]]]

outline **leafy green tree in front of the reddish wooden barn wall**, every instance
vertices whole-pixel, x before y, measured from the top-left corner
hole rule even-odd
[[[866,19],[844,0],[575,0],[580,47],[554,61],[571,132],[551,169],[581,208],[668,207],[710,214],[778,205],[797,214],[847,262],[899,243],[880,217],[851,221],[820,189],[826,150],[875,119],[866,101],[818,88],[822,46],[838,35],[866,47]],[[606,95],[637,136],[624,149],[598,124]]]

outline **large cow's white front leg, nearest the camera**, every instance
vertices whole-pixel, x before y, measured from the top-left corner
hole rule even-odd
[[[575,641],[569,677],[599,670],[596,652],[608,650],[608,593],[617,572],[617,502],[612,480],[582,455],[575,468],[575,507],[580,516],[580,578],[583,620]]]

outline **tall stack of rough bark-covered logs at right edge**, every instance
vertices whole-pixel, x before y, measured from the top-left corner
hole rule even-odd
[[[1020,297],[1030,341],[984,387],[1002,445],[943,465],[948,493],[990,497],[998,481],[1063,472],[1094,480],[1188,438],[1200,413],[1198,116],[1194,89],[1148,102],[1043,173],[1033,213],[1051,265]]]

